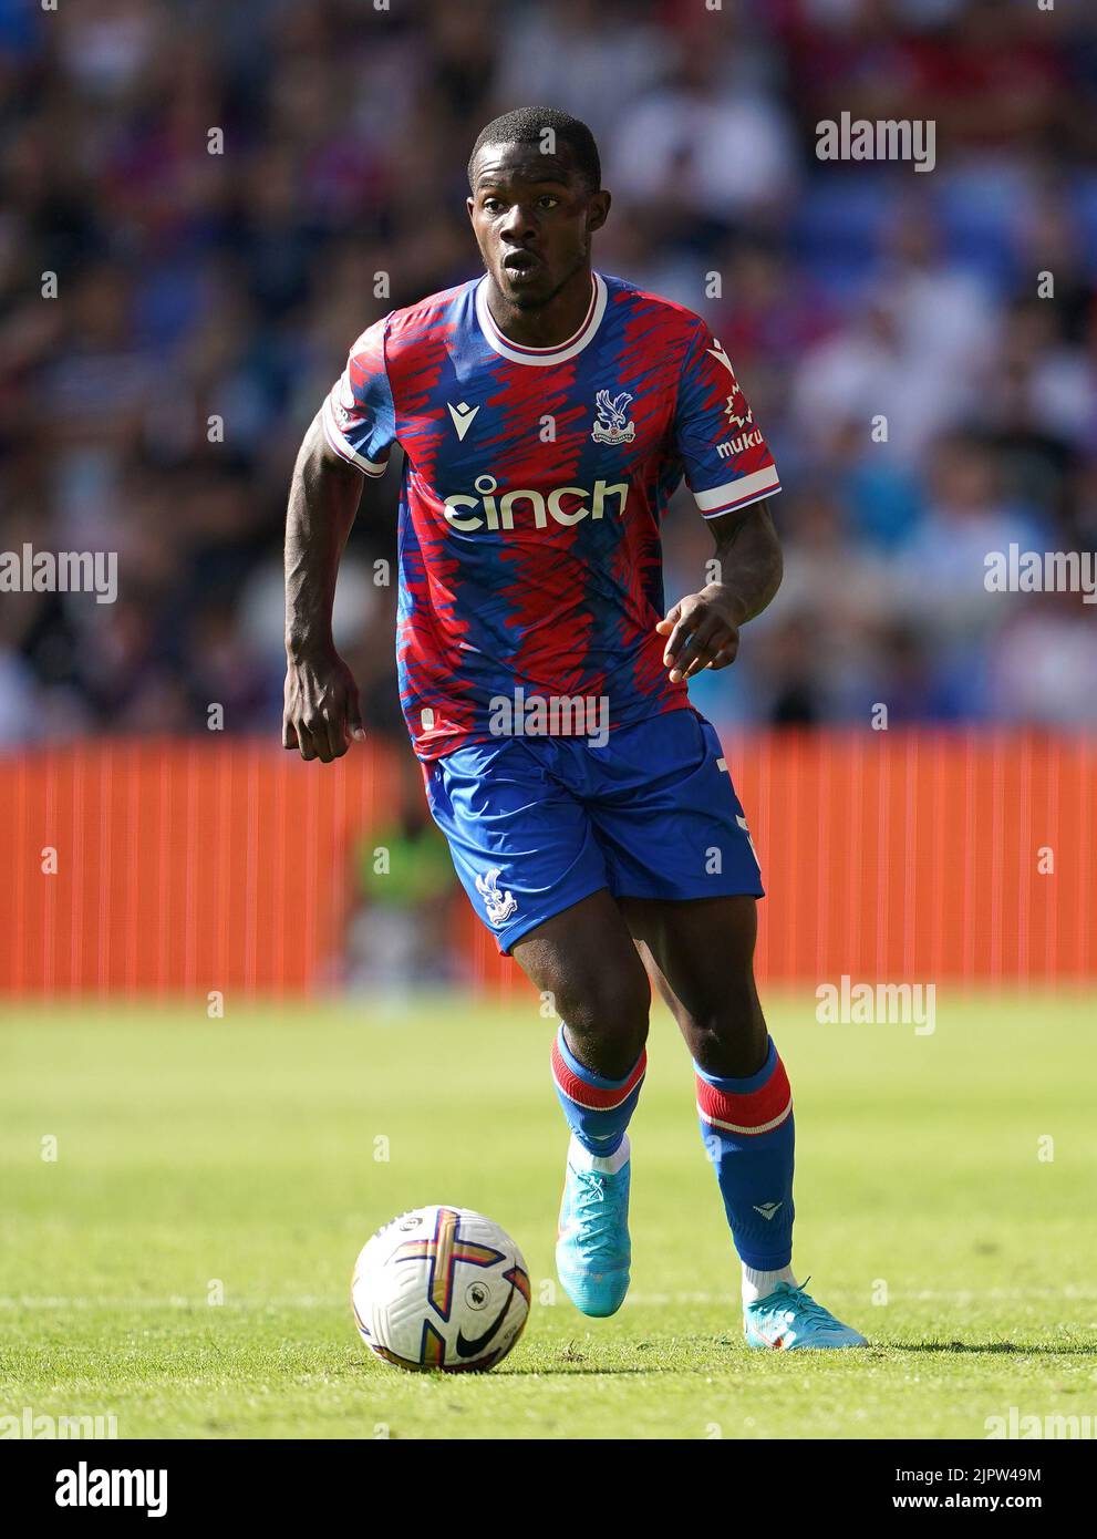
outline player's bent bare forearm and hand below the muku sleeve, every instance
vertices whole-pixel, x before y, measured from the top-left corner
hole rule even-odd
[[[714,519],[711,529],[720,582],[679,599],[655,626],[669,637],[663,662],[672,683],[732,663],[739,628],[762,614],[780,588],[782,549],[766,499]]]

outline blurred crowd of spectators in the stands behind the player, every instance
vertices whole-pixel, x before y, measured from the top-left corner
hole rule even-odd
[[[468,149],[526,103],[589,122],[595,265],[709,320],[782,469],[782,596],[699,706],[1097,722],[1097,605],[983,583],[1011,543],[1097,546],[1083,12],[0,0],[0,553],[118,553],[114,605],[0,594],[0,743],[194,731],[211,703],[278,731],[302,434],[371,320],[477,274]],[[934,119],[935,169],[820,162],[843,111]],[[365,485],[337,599],[385,731],[397,492]],[[682,491],[668,602],[709,551]]]

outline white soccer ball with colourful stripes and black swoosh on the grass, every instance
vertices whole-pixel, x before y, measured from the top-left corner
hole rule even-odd
[[[529,1273],[482,1213],[412,1208],[362,1248],[351,1305],[366,1347],[395,1368],[492,1368],[522,1336]]]

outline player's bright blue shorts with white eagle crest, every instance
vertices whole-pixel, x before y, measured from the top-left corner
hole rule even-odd
[[[692,706],[586,737],[503,737],[423,765],[469,902],[505,954],[606,886],[614,897],[763,897],[720,739]]]

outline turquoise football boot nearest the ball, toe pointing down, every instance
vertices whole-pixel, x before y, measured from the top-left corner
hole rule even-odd
[[[563,1291],[583,1314],[615,1314],[629,1285],[632,1242],[628,1194],[632,1160],[614,1176],[575,1170],[568,1159],[555,1242],[555,1270]]]

